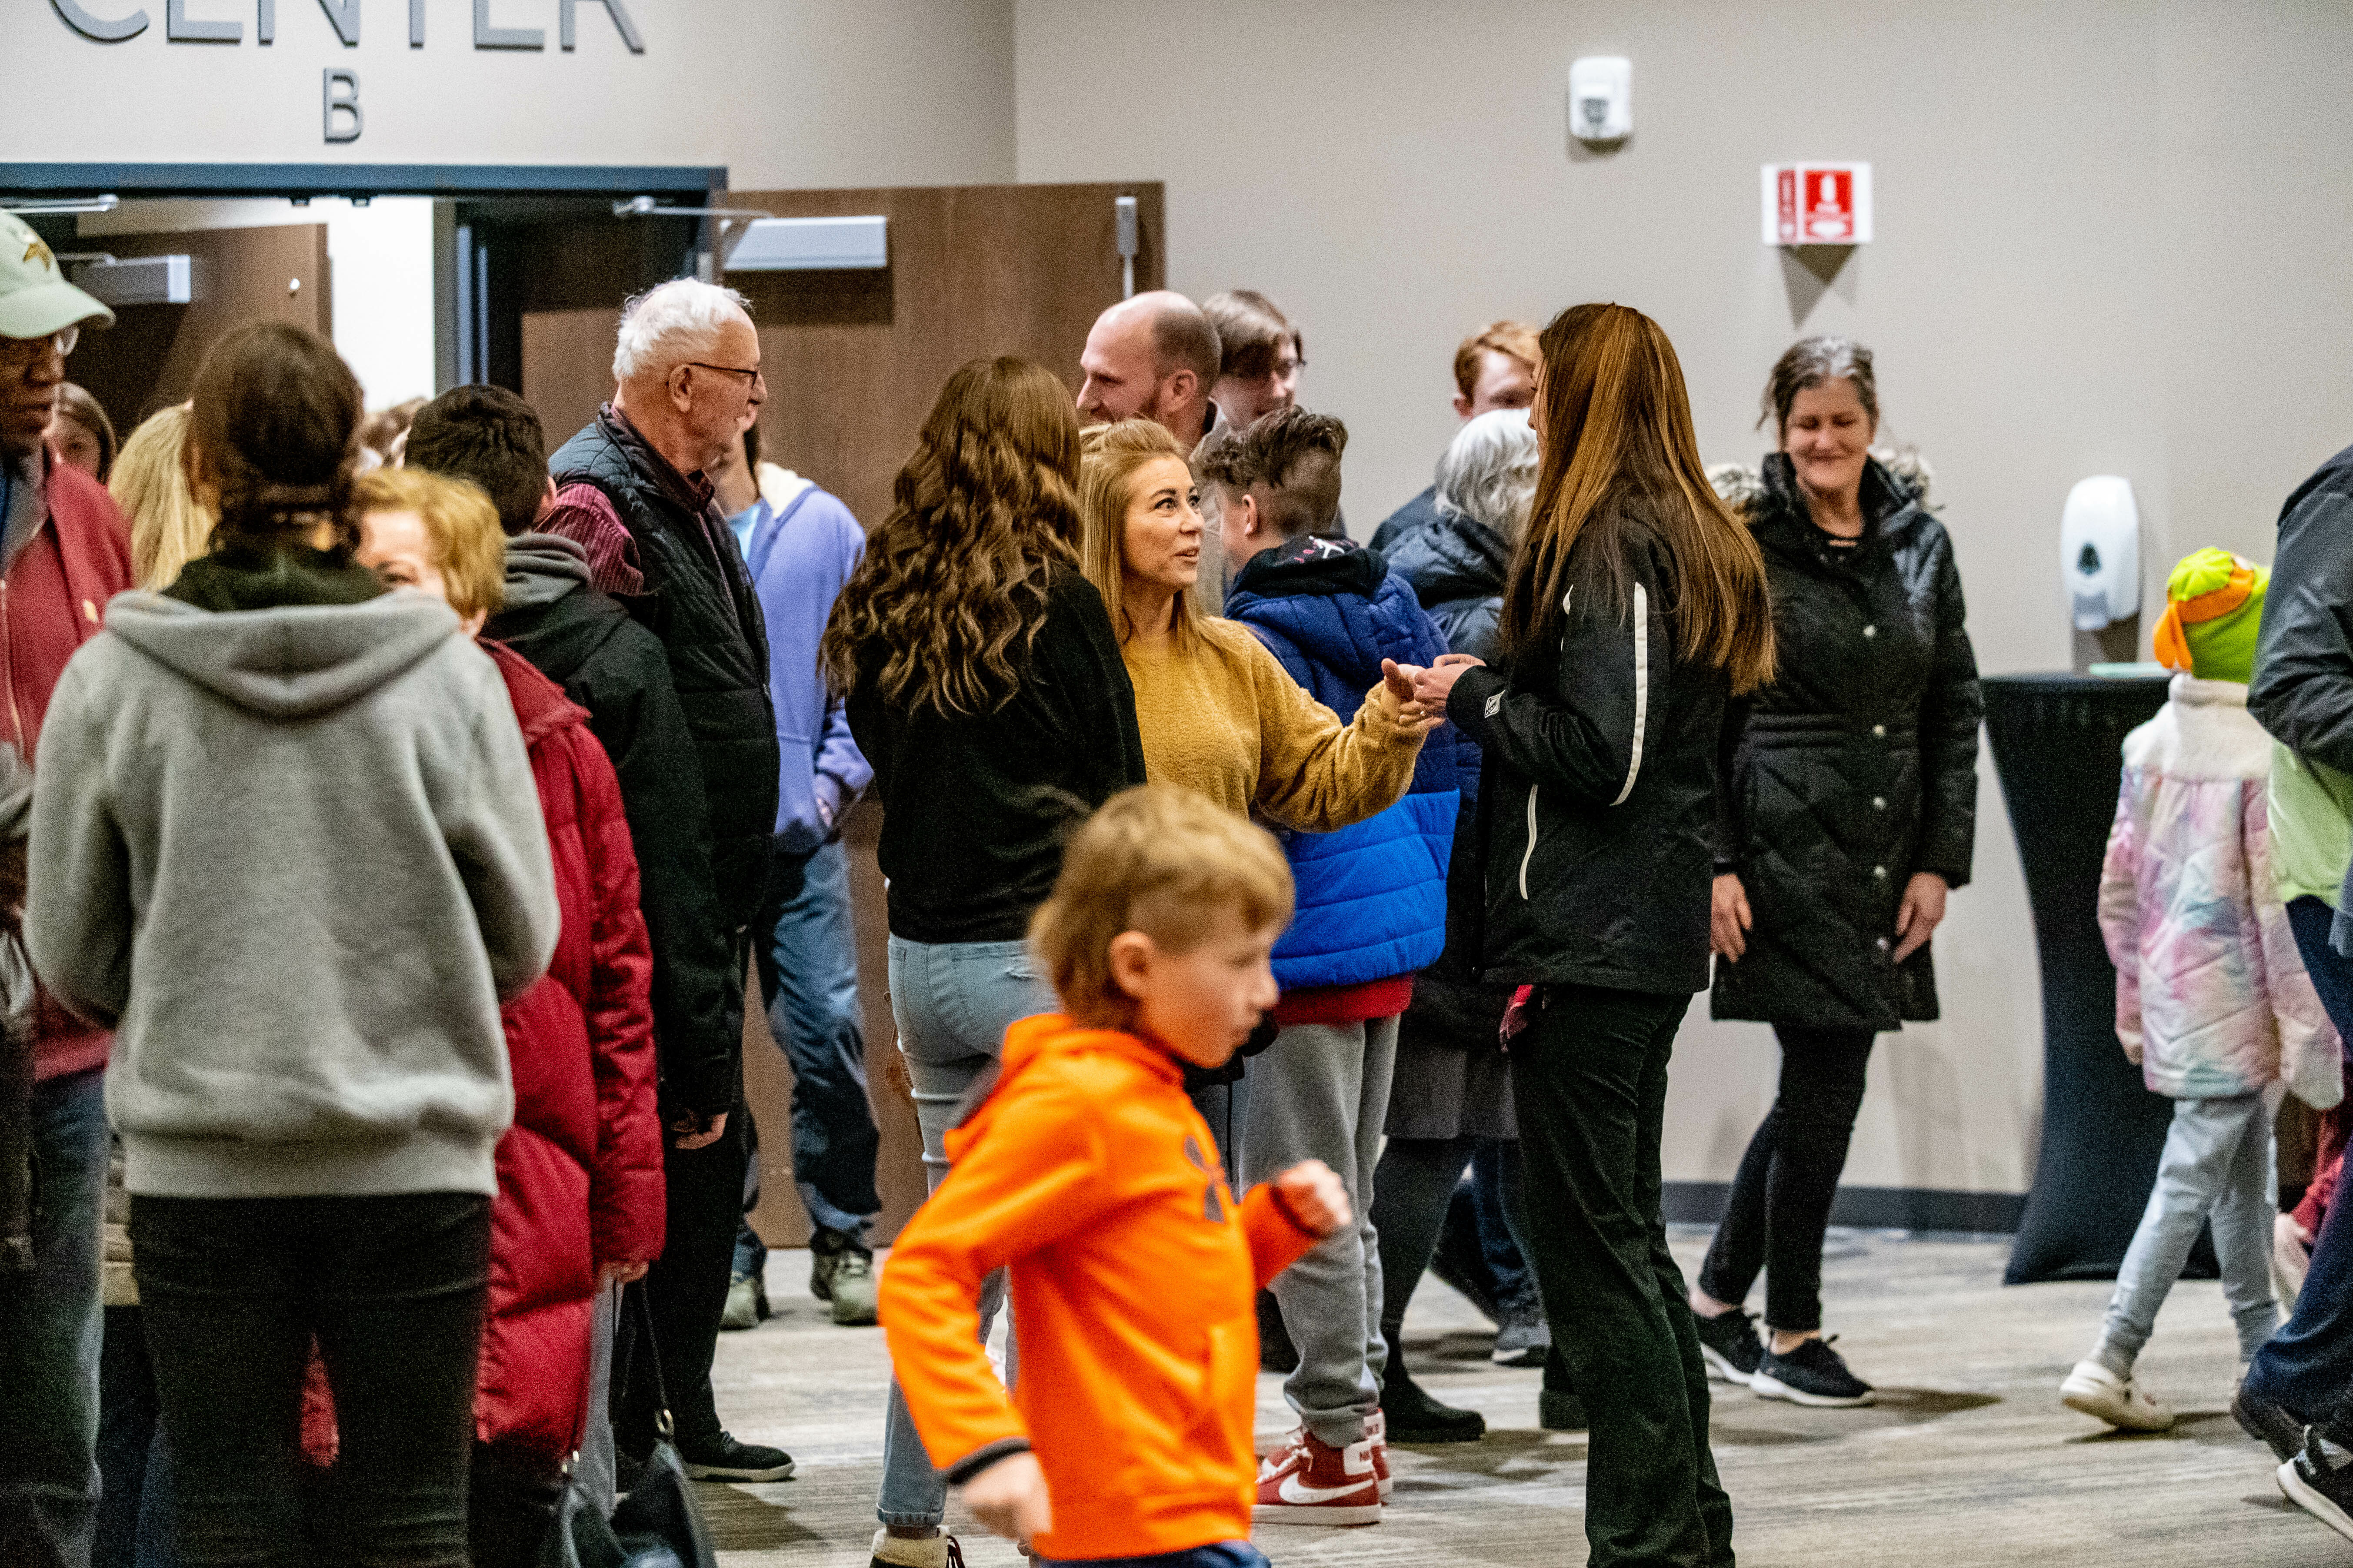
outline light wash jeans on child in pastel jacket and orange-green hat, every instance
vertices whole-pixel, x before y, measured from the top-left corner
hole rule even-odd
[[[2174,1100],[2158,1185],[2115,1274],[2094,1359],[2120,1375],[2132,1371],[2158,1324],[2158,1307],[2181,1279],[2198,1227],[2212,1222],[2238,1359],[2252,1361],[2280,1326],[2280,1307],[2271,1298],[2271,1218],[2280,1211],[2275,1180],[2271,1095]]]

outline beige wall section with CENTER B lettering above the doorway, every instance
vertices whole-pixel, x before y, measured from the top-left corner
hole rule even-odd
[[[47,0],[0,7],[14,82],[54,80],[9,120],[5,158],[38,162],[496,162],[727,165],[746,190],[1012,179],[1012,0],[628,0],[631,54],[600,5],[558,49],[555,0],[496,0],[496,26],[546,31],[544,52],[473,47],[466,0],[362,9],[346,49],[311,0],[280,0],[278,42],[254,42],[252,0],[188,0],[240,19],[245,42],[165,40],[165,0],[85,0],[148,12],[148,31],[96,45]],[[320,134],[320,73],[360,73],[358,141]]]

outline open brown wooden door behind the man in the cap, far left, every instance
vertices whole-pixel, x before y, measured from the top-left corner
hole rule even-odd
[[[155,409],[186,402],[205,355],[238,327],[287,322],[334,334],[325,223],[89,235],[66,254],[92,252],[191,259],[191,303],[115,306],[115,324],[85,331],[66,367],[125,437]]]

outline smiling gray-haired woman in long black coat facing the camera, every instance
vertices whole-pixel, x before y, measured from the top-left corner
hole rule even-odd
[[[1692,1288],[1711,1375],[1871,1403],[1821,1340],[1821,1234],[1871,1039],[1937,1018],[1927,938],[1969,879],[1984,701],[1953,541],[1871,456],[1871,350],[1805,339],[1765,388],[1781,449],[1744,496],[1772,583],[1774,684],[1725,719],[1715,1018],[1781,1041],[1781,1088]],[[1760,1342],[1741,1309],[1765,1272]]]

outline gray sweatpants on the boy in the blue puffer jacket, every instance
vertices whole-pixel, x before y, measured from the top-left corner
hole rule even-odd
[[[1275,1279],[1299,1371],[1282,1396],[1325,1443],[1365,1441],[1381,1401],[1381,1248],[1372,1229],[1372,1168],[1381,1164],[1398,1020],[1294,1023],[1249,1063],[1242,1107],[1242,1185],[1320,1159],[1348,1185],[1355,1225],[1318,1241]]]

